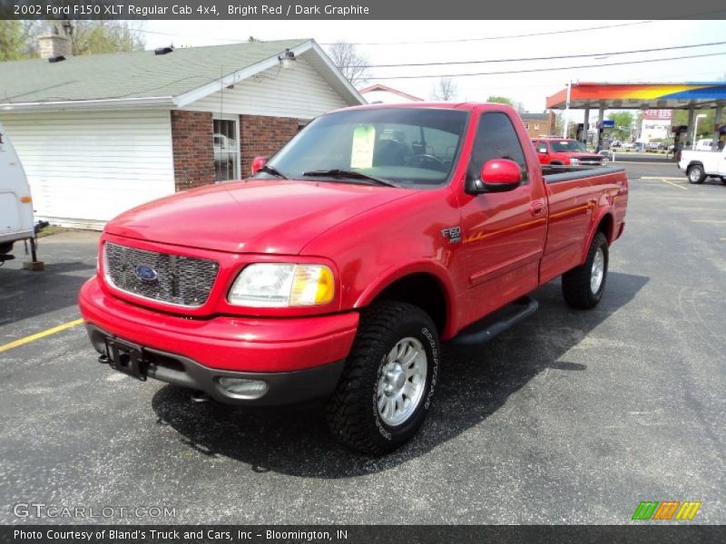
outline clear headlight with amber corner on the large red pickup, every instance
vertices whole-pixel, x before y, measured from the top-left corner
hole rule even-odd
[[[257,263],[240,272],[227,300],[237,306],[317,306],[334,294],[333,273],[325,265]]]

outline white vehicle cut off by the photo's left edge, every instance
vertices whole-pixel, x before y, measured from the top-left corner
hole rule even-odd
[[[30,185],[23,165],[0,124],[0,265],[13,258],[10,252],[16,241],[31,240],[34,249],[34,238]]]

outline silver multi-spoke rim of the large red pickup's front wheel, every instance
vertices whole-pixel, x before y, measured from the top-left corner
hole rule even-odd
[[[407,422],[424,396],[426,377],[424,345],[411,336],[399,340],[378,377],[378,414],[383,423],[396,427]]]

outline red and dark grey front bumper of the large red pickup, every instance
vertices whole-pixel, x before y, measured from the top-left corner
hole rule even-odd
[[[83,285],[79,306],[102,362],[109,362],[110,343],[132,346],[143,355],[136,377],[226,403],[288,404],[329,395],[358,328],[357,312],[288,319],[172,316],[108,295],[95,277]],[[264,387],[234,393],[230,384],[244,380]]]

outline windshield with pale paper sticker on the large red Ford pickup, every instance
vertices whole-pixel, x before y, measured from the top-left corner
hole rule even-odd
[[[467,118],[468,112],[433,108],[330,113],[309,123],[269,165],[288,178],[367,182],[327,173],[341,170],[402,187],[437,187],[449,179]]]

